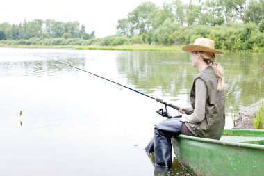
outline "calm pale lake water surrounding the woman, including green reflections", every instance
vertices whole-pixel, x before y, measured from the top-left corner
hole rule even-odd
[[[143,148],[164,120],[156,113],[163,104],[41,56],[177,106],[189,105],[198,73],[183,53],[0,48],[0,175],[153,175]],[[217,56],[226,74],[226,128],[230,113],[264,97],[263,58]],[[171,175],[190,173],[174,159]]]

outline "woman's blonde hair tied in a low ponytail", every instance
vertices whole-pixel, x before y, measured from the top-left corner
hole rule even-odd
[[[207,53],[207,52],[200,52],[204,61],[213,68],[213,72],[217,77],[217,91],[221,91],[225,84],[224,84],[224,70],[220,63],[215,62],[215,54]]]

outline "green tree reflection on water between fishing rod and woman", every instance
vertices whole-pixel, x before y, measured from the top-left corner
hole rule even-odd
[[[130,52],[117,56],[117,69],[138,90],[170,100],[188,95],[195,70],[189,71],[186,54],[166,52]],[[190,74],[191,73],[191,74]]]

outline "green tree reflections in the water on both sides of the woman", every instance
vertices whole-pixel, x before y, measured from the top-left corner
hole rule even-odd
[[[242,109],[263,97],[264,91],[259,83],[264,76],[261,70],[263,55],[242,53],[217,56],[225,71],[227,111],[231,111],[230,107],[234,104]],[[170,52],[120,53],[117,68],[138,90],[169,97],[170,100],[184,98],[187,104],[192,80],[198,73],[191,65],[189,54]]]

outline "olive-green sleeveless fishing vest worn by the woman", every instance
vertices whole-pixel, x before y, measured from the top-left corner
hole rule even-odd
[[[224,115],[224,90],[217,92],[217,77],[211,66],[202,70],[195,79],[202,79],[207,86],[208,97],[206,99],[205,118],[195,125],[197,137],[220,139],[225,124]],[[195,109],[195,81],[190,91],[190,103]]]

